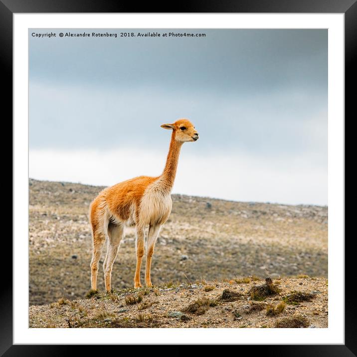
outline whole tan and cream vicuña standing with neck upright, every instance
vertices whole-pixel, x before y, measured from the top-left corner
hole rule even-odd
[[[90,222],[93,233],[93,256],[91,261],[91,285],[97,289],[98,262],[105,239],[108,241],[107,255],[103,270],[105,287],[111,290],[111,272],[124,237],[124,227],[136,226],[137,266],[134,286],[140,287],[140,268],[144,255],[145,227],[149,225],[146,242],[145,283],[151,283],[151,260],[156,239],[161,226],[167,221],[172,209],[173,188],[181,145],[196,141],[198,133],[187,119],[179,119],[173,124],[163,124],[163,128],[173,130],[165,169],[158,177],[140,176],[129,179],[101,191],[90,205]],[[181,130],[183,129],[183,130]]]

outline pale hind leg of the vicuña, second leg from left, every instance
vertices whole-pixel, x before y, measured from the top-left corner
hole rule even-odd
[[[112,278],[112,268],[117,257],[118,250],[120,247],[120,242],[124,235],[124,227],[122,224],[112,224],[108,225],[108,252],[105,258],[103,269],[104,269],[104,280],[105,289],[107,292],[111,291],[111,278]]]

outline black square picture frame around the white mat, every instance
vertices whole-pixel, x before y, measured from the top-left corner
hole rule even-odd
[[[0,64],[2,88],[2,103],[8,115],[4,122],[12,118],[12,15],[13,13],[69,13],[69,12],[276,12],[276,13],[344,13],[345,14],[345,112],[350,121],[355,119],[352,112],[357,82],[357,0],[190,0],[178,1],[176,6],[171,3],[158,2],[120,2],[119,0],[0,0]],[[137,9],[140,8],[140,11]],[[346,119],[345,119],[346,123]],[[12,127],[11,127],[12,130]],[[4,152],[4,151],[3,151]],[[341,237],[343,238],[343,237]],[[2,241],[6,237],[3,235]],[[8,239],[7,239],[8,240]],[[9,243],[9,242],[8,242]],[[2,243],[3,244],[3,243]],[[352,292],[355,281],[352,251],[352,238],[345,240],[345,345],[275,345],[246,346],[250,353],[261,350],[265,356],[357,356],[357,304]],[[10,244],[9,244],[10,245]],[[12,252],[12,246],[6,249],[7,255]],[[10,262],[12,261],[12,254]],[[10,266],[8,262],[7,266]],[[5,265],[3,264],[3,267]],[[330,267],[333,269],[333,267]],[[330,270],[331,271],[331,270]],[[6,279],[6,275],[3,274]],[[346,283],[351,282],[349,286]],[[77,346],[66,345],[13,345],[12,344],[12,279],[2,285],[0,304],[0,354],[1,356],[64,356],[78,353]],[[91,346],[92,353],[101,346]],[[243,346],[240,346],[242,348]],[[81,347],[83,349],[83,347]],[[253,351],[253,350],[254,351]],[[99,350],[98,350],[99,351]],[[157,351],[157,349],[156,349]],[[178,349],[167,350],[170,355],[179,353]],[[83,350],[81,351],[83,352]],[[239,350],[241,352],[241,350]],[[121,351],[118,351],[121,353]],[[187,350],[185,351],[187,353]]]

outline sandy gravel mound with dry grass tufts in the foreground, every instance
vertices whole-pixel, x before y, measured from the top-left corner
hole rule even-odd
[[[300,276],[170,282],[29,308],[30,328],[327,328],[328,282]],[[270,288],[268,288],[270,287]]]

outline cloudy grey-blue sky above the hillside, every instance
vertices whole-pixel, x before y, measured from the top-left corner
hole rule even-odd
[[[29,29],[29,176],[158,176],[184,117],[173,193],[327,205],[327,99],[325,29]]]

